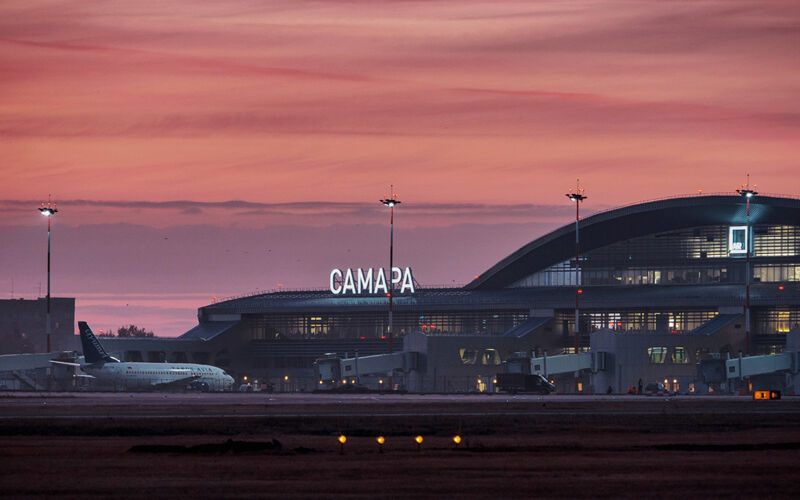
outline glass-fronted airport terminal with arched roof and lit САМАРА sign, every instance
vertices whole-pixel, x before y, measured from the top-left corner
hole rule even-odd
[[[393,274],[392,351],[404,341],[406,351],[416,346],[421,356],[408,370],[433,378],[419,387],[475,389],[515,353],[574,352],[578,289],[581,350],[601,330],[652,338],[658,345],[642,344],[645,362],[683,373],[714,352],[783,351],[800,324],[800,199],[757,196],[749,215],[736,195],[609,210],[580,221],[577,261],[573,222],[461,288],[418,286],[410,270]],[[104,342],[130,361],[211,363],[275,390],[313,390],[315,360],[389,352],[385,282],[382,270],[334,270],[324,290],[201,307],[199,324],[178,339]]]

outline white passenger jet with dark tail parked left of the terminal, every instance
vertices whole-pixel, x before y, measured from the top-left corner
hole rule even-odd
[[[120,361],[110,356],[85,321],[78,322],[84,363],[51,360],[51,363],[79,367],[80,377],[96,378],[126,389],[167,389],[189,386],[198,390],[229,391],[233,377],[221,368],[194,363],[142,363]]]

